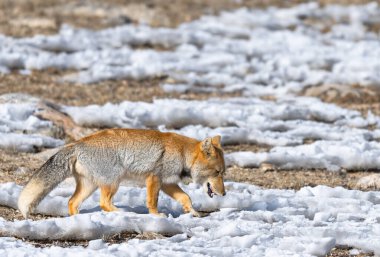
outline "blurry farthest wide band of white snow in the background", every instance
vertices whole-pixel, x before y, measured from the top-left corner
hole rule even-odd
[[[322,83],[378,86],[379,35],[365,25],[379,15],[376,3],[311,3],[239,9],[175,29],[127,25],[93,32],[64,26],[54,36],[0,36],[0,72],[75,69],[80,72],[63,79],[81,83],[168,75],[173,84],[162,85],[165,90],[246,95],[281,96]],[[145,45],[168,50],[134,48]]]

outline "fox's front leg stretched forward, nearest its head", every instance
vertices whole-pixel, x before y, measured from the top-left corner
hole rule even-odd
[[[162,185],[162,191],[169,195],[171,198],[179,202],[185,213],[191,213],[194,217],[203,217],[193,208],[190,197],[177,185],[177,184],[167,184]]]

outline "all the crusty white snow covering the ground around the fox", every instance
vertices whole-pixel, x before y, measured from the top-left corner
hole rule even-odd
[[[208,16],[175,29],[128,25],[101,31],[62,27],[58,35],[0,35],[0,73],[33,69],[70,70],[62,80],[168,76],[161,86],[176,92],[241,92],[242,98],[103,106],[61,106],[89,127],[139,127],[175,131],[202,139],[221,134],[223,144],[252,143],[268,152],[233,152],[228,165],[282,169],[378,169],[380,119],[368,113],[298,97],[321,84],[380,85],[380,7],[300,5],[290,9],[240,9]],[[328,23],[328,24],[327,24]],[[148,49],[150,46],[154,48]],[[161,50],[157,50],[161,49]],[[164,50],[162,50],[164,49]],[[74,70],[72,72],[72,70]],[[89,87],[91,85],[88,85]],[[275,101],[262,95],[276,96]],[[37,98],[0,96],[0,147],[35,151],[61,146],[53,124],[37,117]],[[169,218],[147,214],[145,190],[122,187],[116,205],[103,213],[98,193],[74,217],[39,221],[0,219],[0,255],[136,256],[322,256],[336,245],[380,254],[380,194],[343,188],[264,190],[227,183],[227,196],[209,199],[195,185],[183,186],[195,207],[214,211],[198,219],[161,196]],[[38,212],[65,216],[73,186],[54,190]],[[0,185],[0,205],[15,207],[20,187]],[[153,231],[173,237],[107,245],[103,234]],[[86,239],[88,248],[35,248],[30,239]]]

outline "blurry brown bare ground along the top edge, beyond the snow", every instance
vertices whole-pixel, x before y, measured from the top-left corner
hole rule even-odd
[[[0,33],[14,37],[57,33],[62,24],[102,29],[127,23],[175,27],[202,15],[239,7],[289,7],[305,0],[0,0]],[[370,0],[319,0],[329,3],[367,3]]]

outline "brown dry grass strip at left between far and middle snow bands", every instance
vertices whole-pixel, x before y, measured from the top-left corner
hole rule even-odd
[[[237,97],[240,93],[167,93],[160,83],[165,78],[145,80],[108,80],[95,84],[72,84],[59,82],[63,72],[53,69],[33,71],[30,76],[16,72],[0,74],[0,95],[6,93],[27,93],[41,99],[64,105],[120,103],[122,101],[152,102],[158,98],[180,98],[188,100],[203,100],[210,97]]]

